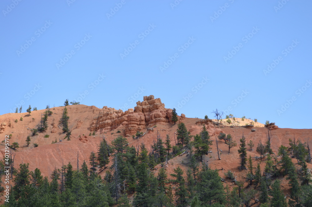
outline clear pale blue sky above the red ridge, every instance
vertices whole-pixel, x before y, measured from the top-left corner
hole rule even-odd
[[[311,1],[18,1],[1,8],[0,114],[80,101],[216,108],[311,128]],[[114,11],[115,10],[115,11]],[[225,116],[224,116],[225,117]]]

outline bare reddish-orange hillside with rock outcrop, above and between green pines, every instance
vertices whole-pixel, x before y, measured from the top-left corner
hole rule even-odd
[[[144,96],[144,100],[138,101],[137,106],[134,109],[127,111],[116,110],[114,108],[108,108],[104,106],[99,109],[95,106],[85,105],[70,105],[66,106],[69,116],[69,128],[72,129],[70,141],[65,138],[62,127],[60,126],[60,120],[62,112],[65,106],[50,108],[53,112],[48,117],[48,128],[43,133],[32,136],[31,130],[37,128],[40,123],[41,115],[46,111],[38,110],[32,111],[30,116],[28,113],[10,113],[0,115],[0,136],[4,140],[5,135],[12,134],[12,138],[9,139],[10,144],[13,142],[19,143],[19,148],[11,149],[13,155],[15,155],[14,166],[18,167],[21,163],[29,163],[29,170],[34,171],[39,168],[43,176],[50,177],[54,169],[61,169],[63,164],[71,162],[73,169],[77,169],[77,154],[79,160],[79,166],[85,160],[89,164],[89,156],[91,152],[97,153],[100,140],[105,137],[106,141],[110,144],[118,135],[124,136],[129,146],[138,146],[144,143],[146,148],[150,150],[150,146],[154,143],[154,139],[157,137],[157,133],[160,137],[165,139],[168,134],[170,137],[171,145],[176,144],[176,132],[178,129],[178,123],[183,122],[186,128],[191,132],[191,135],[199,134],[202,131],[202,125],[205,125],[209,135],[212,139],[211,153],[204,155],[204,162],[207,162],[211,169],[218,169],[219,175],[223,178],[224,172],[228,170],[232,171],[237,176],[238,181],[244,181],[247,171],[240,171],[239,166],[239,154],[237,152],[238,145],[231,148],[228,153],[228,146],[217,139],[221,160],[218,160],[216,137],[220,133],[231,134],[233,139],[239,143],[239,139],[242,134],[246,137],[246,141],[252,140],[255,144],[252,150],[247,146],[247,156],[260,157],[256,152],[256,146],[258,143],[265,143],[267,140],[267,133],[270,131],[272,136],[271,148],[275,155],[277,155],[280,145],[288,146],[289,139],[299,139],[302,142],[308,142],[312,134],[312,129],[281,129],[276,125],[265,127],[264,124],[256,123],[254,126],[246,127],[246,124],[251,124],[252,120],[241,120],[236,118],[236,124],[229,125],[225,122],[225,119],[216,125],[216,120],[203,120],[199,118],[187,118],[187,115],[181,114],[178,116],[178,122],[173,125],[170,122],[172,109],[166,109],[165,105],[159,98],[155,99],[154,96]],[[204,116],[204,115],[203,115]],[[20,120],[20,118],[23,120]],[[17,122],[15,121],[17,120]],[[147,130],[155,126],[155,128]],[[255,130],[251,130],[255,129]],[[118,133],[120,131],[120,133]],[[134,139],[132,135],[137,131],[144,132],[144,136]],[[89,134],[95,135],[89,135]],[[45,135],[49,135],[45,138]],[[27,147],[26,138],[31,137],[31,143]],[[53,141],[57,141],[53,143]],[[33,144],[37,143],[38,147],[33,147]],[[0,146],[1,159],[5,156],[5,149]],[[112,159],[112,157],[110,158]],[[198,161],[199,162],[199,161]],[[254,166],[257,163],[261,164],[261,170],[264,169],[265,159],[255,159]],[[168,175],[173,173],[173,169],[181,167],[184,173],[187,171],[189,158],[187,153],[182,156],[177,156],[168,161],[166,170]],[[295,161],[294,161],[295,163]],[[112,164],[110,162],[109,166]],[[296,164],[297,166],[297,164]],[[90,166],[89,166],[90,167]],[[154,172],[158,172],[161,165],[158,164],[154,168]],[[312,168],[312,165],[308,163],[308,168]],[[105,176],[105,171],[99,172],[102,177]],[[185,175],[185,174],[184,174]],[[282,178],[282,187],[284,193],[289,193],[288,181]],[[233,184],[232,184],[233,185]],[[246,186],[246,184],[245,184]]]

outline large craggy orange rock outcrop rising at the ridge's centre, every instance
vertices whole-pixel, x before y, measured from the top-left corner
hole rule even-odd
[[[125,127],[126,136],[131,136],[148,126],[169,122],[172,109],[166,109],[160,98],[144,96],[143,101],[136,104],[134,109],[125,112],[104,106],[93,120],[90,131],[113,130],[121,126]]]

